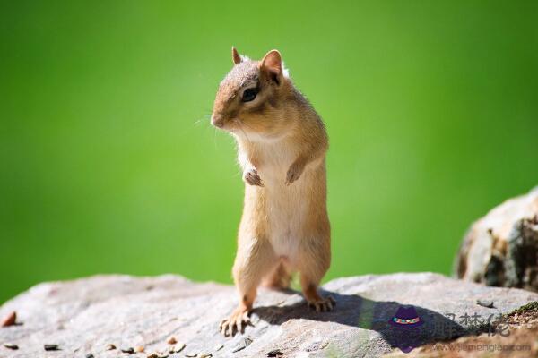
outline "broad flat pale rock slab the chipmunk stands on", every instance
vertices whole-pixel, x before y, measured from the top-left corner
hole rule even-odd
[[[18,324],[0,328],[0,357],[147,357],[168,351],[169,337],[187,346],[180,353],[213,357],[265,357],[280,350],[280,357],[379,356],[484,331],[489,317],[507,313],[538,294],[481,286],[431,273],[393,274],[335,279],[324,294],[337,301],[332,312],[308,309],[294,291],[261,289],[252,319],[243,335],[221,337],[218,325],[234,308],[232,286],[193,283],[183,277],[97,276],[70,282],[34,286],[4,303],[0,318],[17,312]],[[492,301],[482,307],[477,300]],[[420,328],[393,328],[391,320],[400,305],[413,305]],[[480,320],[466,320],[465,314]],[[494,315],[494,316],[491,316]],[[247,345],[243,349],[238,348]],[[58,345],[45,352],[43,345]],[[144,353],[107,351],[143,346]],[[222,345],[221,349],[216,348]]]

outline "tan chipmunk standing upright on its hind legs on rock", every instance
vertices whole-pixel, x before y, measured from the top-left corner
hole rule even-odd
[[[224,336],[249,323],[258,286],[288,288],[293,271],[310,307],[331,311],[335,304],[317,293],[331,263],[325,124],[294,87],[277,50],[261,61],[235,47],[231,52],[234,66],[221,81],[211,117],[235,137],[245,182],[232,269],[239,305],[221,322]]]

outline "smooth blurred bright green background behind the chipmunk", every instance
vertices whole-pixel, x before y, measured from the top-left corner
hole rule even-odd
[[[325,279],[449,273],[538,184],[538,3],[0,5],[0,302],[44,280],[231,282],[243,183],[209,125],[230,47],[278,48],[325,119]]]

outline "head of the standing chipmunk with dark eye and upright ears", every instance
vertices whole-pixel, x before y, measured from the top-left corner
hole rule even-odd
[[[212,124],[237,135],[279,134],[285,126],[283,102],[291,90],[280,53],[272,50],[253,61],[232,47],[231,55],[234,66],[217,91]]]

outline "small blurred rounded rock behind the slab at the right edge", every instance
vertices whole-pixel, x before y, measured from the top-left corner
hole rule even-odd
[[[538,291],[538,188],[475,222],[455,266],[464,280]]]

